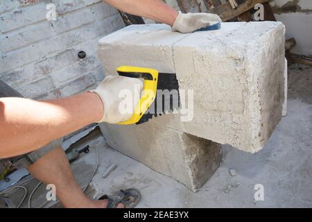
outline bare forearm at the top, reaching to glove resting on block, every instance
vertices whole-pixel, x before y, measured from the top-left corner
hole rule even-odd
[[[103,0],[123,12],[173,26],[177,12],[162,0]]]

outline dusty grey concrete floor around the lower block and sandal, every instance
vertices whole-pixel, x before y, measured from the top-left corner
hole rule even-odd
[[[95,143],[72,164],[83,186],[94,171],[98,151],[98,171],[87,190],[92,198],[136,187],[142,194],[138,207],[312,207],[312,67],[289,68],[288,115],[263,150],[252,155],[223,146],[222,166],[197,193],[107,147],[104,139]],[[117,168],[102,178],[112,163]],[[235,169],[236,176],[229,169]],[[257,184],[263,185],[264,200],[254,200]],[[33,206],[42,203],[43,194],[35,196]]]

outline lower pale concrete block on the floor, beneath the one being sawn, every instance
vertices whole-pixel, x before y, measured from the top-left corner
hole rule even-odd
[[[220,144],[152,121],[140,126],[100,125],[107,144],[197,191],[222,161]]]

